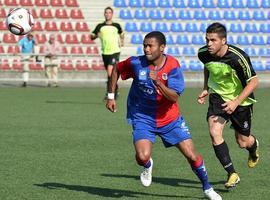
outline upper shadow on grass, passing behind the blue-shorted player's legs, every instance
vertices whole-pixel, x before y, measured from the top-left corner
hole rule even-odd
[[[101,176],[105,177],[113,177],[113,178],[129,178],[129,179],[135,179],[139,181],[139,176],[132,176],[132,175],[123,175],[123,174],[101,174]],[[178,179],[178,178],[164,178],[164,177],[153,177],[152,182],[163,184],[163,185],[169,185],[169,186],[180,186],[180,187],[186,187],[186,188],[198,188],[202,189],[201,182],[200,181],[193,181],[190,179]],[[212,185],[220,185],[224,184],[223,181],[218,182],[210,182]],[[226,189],[215,189],[219,192],[228,192]]]

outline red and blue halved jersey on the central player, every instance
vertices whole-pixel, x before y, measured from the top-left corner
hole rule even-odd
[[[145,56],[130,57],[117,64],[123,80],[133,78],[127,99],[127,119],[134,124],[146,123],[152,127],[162,127],[176,120],[179,115],[177,102],[169,101],[157,91]],[[158,77],[168,88],[180,95],[184,90],[184,78],[178,61],[166,55],[165,64],[158,70]]]

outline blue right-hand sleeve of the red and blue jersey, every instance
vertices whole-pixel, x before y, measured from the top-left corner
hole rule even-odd
[[[168,74],[168,87],[176,91],[178,95],[181,95],[185,88],[184,76],[182,69],[176,67]]]

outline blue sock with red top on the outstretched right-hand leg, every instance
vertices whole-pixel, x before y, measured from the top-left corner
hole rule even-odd
[[[193,172],[197,175],[197,177],[202,182],[203,190],[210,189],[212,186],[208,182],[207,171],[204,166],[202,157],[198,156],[195,162],[190,162],[190,166]]]

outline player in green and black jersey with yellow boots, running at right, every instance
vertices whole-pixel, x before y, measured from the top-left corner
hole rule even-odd
[[[209,95],[207,121],[215,154],[228,173],[226,188],[234,187],[240,177],[230,158],[222,134],[225,124],[231,121],[240,148],[249,152],[248,166],[259,161],[258,140],[251,135],[252,105],[256,102],[253,91],[258,77],[249,56],[241,49],[227,44],[227,31],[220,23],[206,30],[206,46],[199,49],[198,57],[204,64],[204,88],[198,103],[204,104]]]

